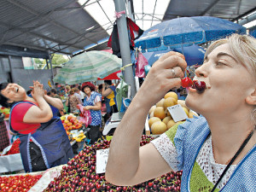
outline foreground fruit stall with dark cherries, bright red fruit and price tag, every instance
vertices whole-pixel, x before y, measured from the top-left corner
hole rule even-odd
[[[142,136],[140,145],[152,141],[154,137]],[[161,177],[129,187],[110,184],[105,179],[105,168],[108,160],[108,148],[111,141],[99,140],[84,148],[69,160],[66,165],[55,166],[44,172],[17,173],[0,177],[1,191],[179,191],[182,172],[169,172]],[[24,180],[29,183],[20,185],[9,184]],[[9,190],[12,187],[13,190]],[[22,189],[21,189],[22,188]],[[20,189],[20,190],[19,190]],[[146,190],[147,189],[147,190]]]

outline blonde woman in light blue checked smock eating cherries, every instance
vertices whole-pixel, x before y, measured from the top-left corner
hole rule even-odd
[[[247,35],[233,34],[207,49],[194,79],[207,89],[189,87],[186,98],[202,115],[139,148],[149,108],[181,85],[186,66],[175,52],[154,63],[113,135],[108,182],[134,185],[183,170],[181,191],[256,191],[256,39]]]

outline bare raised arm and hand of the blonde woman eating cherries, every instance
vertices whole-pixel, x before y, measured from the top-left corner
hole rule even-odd
[[[149,109],[168,90],[180,86],[185,68],[184,58],[175,52],[163,55],[154,63],[114,132],[105,175],[108,182],[133,185],[171,171],[153,144],[140,148],[140,140]]]

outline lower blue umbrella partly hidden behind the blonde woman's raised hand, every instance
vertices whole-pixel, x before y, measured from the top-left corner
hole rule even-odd
[[[201,65],[204,61],[205,50],[194,44],[189,47],[159,50],[154,52],[145,52],[143,55],[148,60],[148,65],[152,66],[155,61],[157,61],[162,55],[165,55],[169,51],[177,51],[185,56],[188,66],[193,66],[195,64]]]

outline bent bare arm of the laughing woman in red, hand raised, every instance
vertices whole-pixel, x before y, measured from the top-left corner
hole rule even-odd
[[[45,123],[53,117],[49,104],[44,100],[43,84],[38,81],[33,82],[32,97],[38,106],[29,108],[23,118],[25,123]]]

